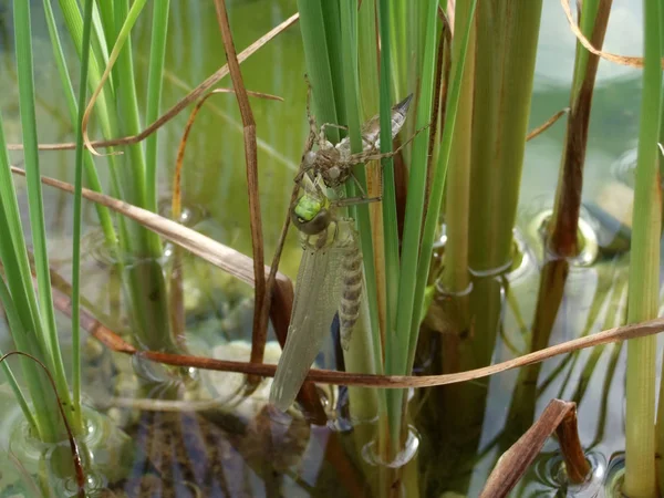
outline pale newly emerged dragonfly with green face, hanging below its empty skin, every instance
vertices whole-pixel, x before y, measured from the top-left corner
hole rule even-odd
[[[360,314],[363,273],[355,221],[338,217],[335,209],[318,193],[304,194],[291,209],[303,253],[286,346],[270,391],[270,402],[281,411],[300,391],[334,313],[339,312],[344,349]]]

